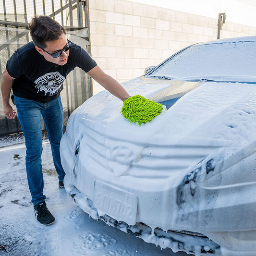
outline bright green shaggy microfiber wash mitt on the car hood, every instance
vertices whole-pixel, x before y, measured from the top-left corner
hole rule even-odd
[[[153,120],[162,110],[162,104],[143,96],[135,95],[124,100],[121,113],[129,122],[137,122],[141,125]]]

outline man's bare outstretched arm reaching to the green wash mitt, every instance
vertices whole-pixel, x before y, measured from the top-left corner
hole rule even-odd
[[[114,78],[110,75],[104,73],[98,66],[94,67],[87,72],[96,82],[102,85],[106,90],[117,98],[124,101],[126,98],[129,98],[130,95],[127,91],[120,85]]]

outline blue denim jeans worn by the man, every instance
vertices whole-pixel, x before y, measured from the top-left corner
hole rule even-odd
[[[14,96],[15,105],[26,144],[26,172],[32,203],[37,205],[45,201],[43,195],[44,180],[41,163],[42,131],[41,115],[47,129],[53,163],[59,175],[59,181],[63,181],[65,172],[61,166],[60,142],[63,133],[63,108],[61,97],[46,103]]]

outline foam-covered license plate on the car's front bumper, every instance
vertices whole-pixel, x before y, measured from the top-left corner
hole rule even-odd
[[[133,194],[96,181],[93,204],[100,216],[107,214],[129,225],[136,223],[138,197]]]

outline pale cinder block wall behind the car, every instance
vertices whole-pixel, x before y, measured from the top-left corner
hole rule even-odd
[[[228,18],[228,17],[227,17]],[[89,1],[92,57],[120,83],[140,76],[184,47],[217,39],[216,19],[126,0]],[[256,35],[226,21],[220,38]],[[93,81],[94,94],[103,90]]]

